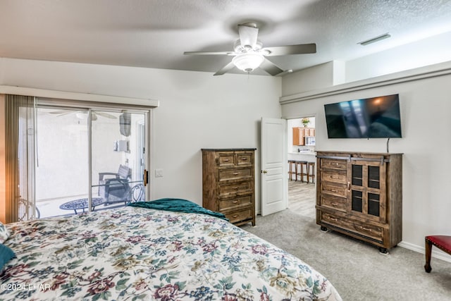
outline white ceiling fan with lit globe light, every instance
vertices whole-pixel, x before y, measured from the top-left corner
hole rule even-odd
[[[286,56],[290,54],[314,54],[316,44],[297,44],[277,47],[263,47],[257,39],[259,28],[255,23],[243,23],[238,25],[238,39],[233,45],[234,51],[185,51],[183,54],[202,55],[226,55],[233,56],[232,61],[218,70],[214,75],[223,75],[232,70],[235,66],[240,70],[251,73],[256,68],[261,68],[271,75],[283,75],[292,70],[282,70],[272,63],[265,56]]]

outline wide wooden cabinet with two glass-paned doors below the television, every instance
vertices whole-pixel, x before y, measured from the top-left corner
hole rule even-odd
[[[402,240],[402,154],[316,152],[316,223],[386,253]]]

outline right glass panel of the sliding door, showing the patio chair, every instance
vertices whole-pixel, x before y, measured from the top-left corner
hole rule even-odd
[[[92,111],[92,202],[105,206],[144,199],[145,113]]]

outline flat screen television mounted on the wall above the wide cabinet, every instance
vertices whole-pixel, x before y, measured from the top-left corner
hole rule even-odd
[[[400,138],[399,94],[325,104],[329,138]]]

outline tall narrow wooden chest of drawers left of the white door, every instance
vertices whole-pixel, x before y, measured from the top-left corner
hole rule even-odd
[[[202,149],[202,206],[255,226],[255,149]]]

